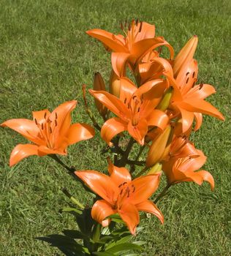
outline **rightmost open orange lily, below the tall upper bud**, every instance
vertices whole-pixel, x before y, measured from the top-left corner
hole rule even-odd
[[[216,90],[209,84],[195,85],[197,81],[197,61],[188,61],[181,68],[175,80],[173,96],[170,101],[170,109],[173,110],[173,118],[181,114],[182,130],[186,132],[196,118],[195,130],[202,124],[202,113],[224,120],[224,116],[204,99]]]

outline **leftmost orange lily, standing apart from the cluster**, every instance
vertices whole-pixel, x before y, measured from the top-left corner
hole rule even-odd
[[[76,100],[65,102],[52,113],[49,110],[33,112],[34,120],[10,119],[1,127],[19,132],[34,144],[18,144],[10,154],[10,166],[31,155],[67,154],[67,146],[94,137],[94,129],[88,124],[71,124],[71,111]]]

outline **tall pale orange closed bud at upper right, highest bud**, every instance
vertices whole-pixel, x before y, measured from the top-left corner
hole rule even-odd
[[[186,42],[186,45],[183,46],[178,55],[175,57],[173,63],[174,77],[178,75],[178,72],[181,70],[181,67],[183,67],[183,64],[193,59],[195,50],[197,48],[197,42],[198,37],[194,35],[191,39],[189,39],[188,42]]]

